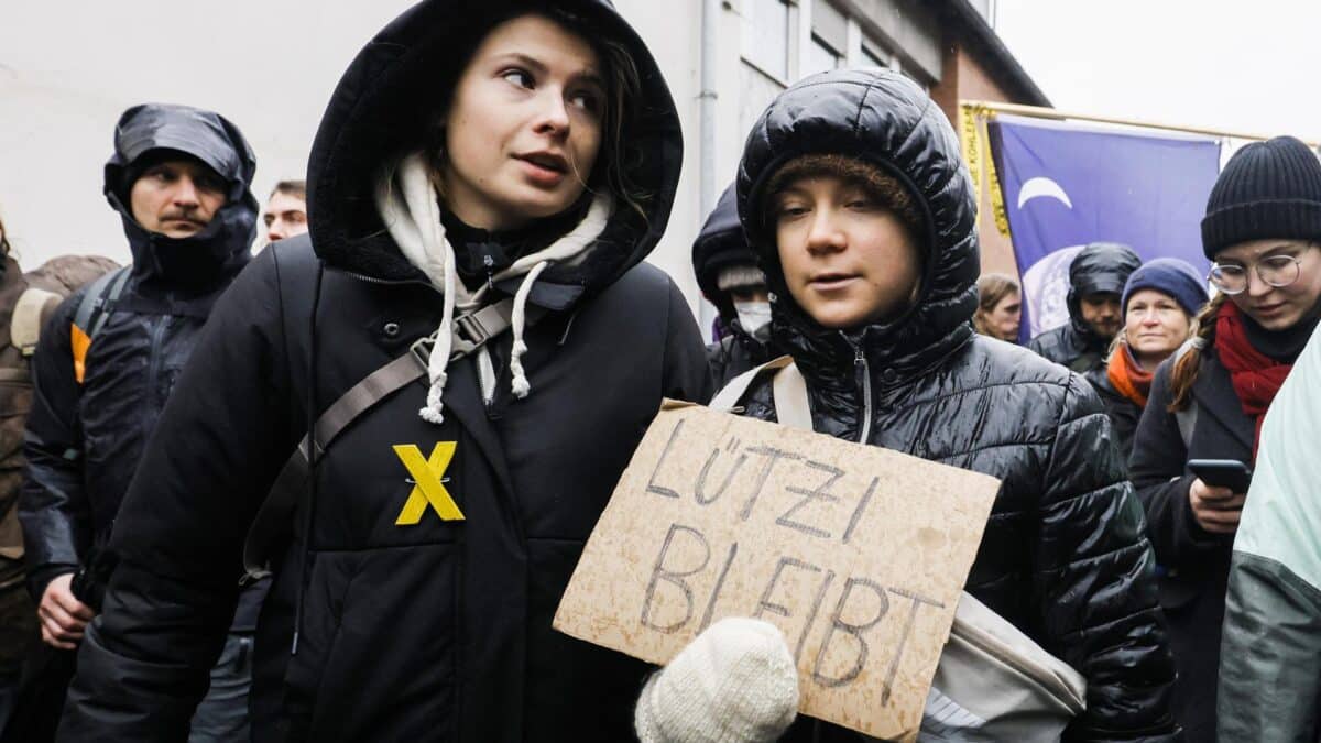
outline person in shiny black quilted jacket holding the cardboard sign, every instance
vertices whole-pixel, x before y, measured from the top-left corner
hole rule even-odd
[[[1141,505],[1087,382],[974,333],[975,209],[945,114],[881,70],[781,94],[738,171],[812,427],[1001,479],[967,591],[1087,678],[1066,739],[1173,739]],[[742,405],[774,420],[769,378]],[[810,724],[790,738],[832,739]]]

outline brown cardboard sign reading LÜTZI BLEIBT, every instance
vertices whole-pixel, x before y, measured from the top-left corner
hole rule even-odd
[[[668,402],[555,628],[654,664],[724,616],[774,623],[801,706],[913,738],[1000,481]]]

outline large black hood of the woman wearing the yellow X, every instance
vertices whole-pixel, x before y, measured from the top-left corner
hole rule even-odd
[[[551,266],[539,283],[594,293],[639,263],[670,219],[683,137],[670,89],[646,45],[606,0],[425,0],[382,29],[358,53],[321,119],[308,164],[312,245],[328,264],[383,280],[425,280],[391,239],[373,200],[380,169],[420,149],[443,104],[439,90],[458,77],[485,33],[520,11],[552,8],[592,29],[590,40],[624,45],[642,82],[624,123],[624,161],[649,198],[646,221],[626,205],[581,260]]]

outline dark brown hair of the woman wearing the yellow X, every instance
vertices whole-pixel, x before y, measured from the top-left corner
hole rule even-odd
[[[642,163],[642,153],[635,151],[625,136],[638,114],[638,103],[642,95],[642,75],[633,62],[633,54],[618,41],[605,38],[598,30],[593,30],[589,22],[569,11],[561,8],[546,8],[502,16],[486,32],[477,36],[477,42],[468,50],[461,69],[449,81],[450,91],[443,102],[432,126],[428,130],[425,148],[427,160],[431,169],[432,186],[445,198],[441,175],[445,172],[445,118],[453,103],[453,90],[457,89],[458,78],[468,67],[473,52],[482,40],[501,22],[531,15],[544,16],[564,26],[571,33],[583,37],[596,52],[601,65],[601,79],[605,81],[605,112],[601,120],[601,147],[592,173],[588,175],[584,185],[588,192],[604,188],[610,196],[622,201],[629,209],[635,212],[643,221],[647,218],[643,205],[651,194],[639,188],[629,175],[629,171]]]

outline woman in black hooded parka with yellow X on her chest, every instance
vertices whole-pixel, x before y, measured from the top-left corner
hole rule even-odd
[[[310,235],[239,276],[160,419],[61,739],[186,738],[276,473],[396,358],[420,378],[316,450],[276,525],[252,739],[629,736],[646,666],[551,619],[662,397],[709,395],[642,264],[680,156],[609,3],[433,0],[382,30],[317,135]],[[493,304],[511,327],[452,361]]]

